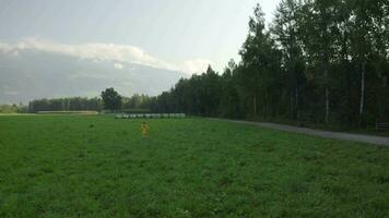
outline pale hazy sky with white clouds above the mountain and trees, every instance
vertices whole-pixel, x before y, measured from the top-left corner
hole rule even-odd
[[[256,3],[269,22],[279,0],[0,0],[0,50],[222,71],[239,60]]]

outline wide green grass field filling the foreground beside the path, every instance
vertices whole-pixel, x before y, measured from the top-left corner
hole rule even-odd
[[[205,119],[0,117],[0,217],[389,217],[389,148]]]

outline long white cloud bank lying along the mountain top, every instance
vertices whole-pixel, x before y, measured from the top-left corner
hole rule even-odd
[[[121,63],[139,63],[153,68],[167,69],[173,71],[182,71],[184,73],[192,74],[200,73],[207,70],[211,61],[197,59],[188,60],[182,63],[169,63],[145,53],[142,49],[130,45],[115,44],[59,44],[50,40],[38,38],[25,38],[16,44],[4,44],[0,41],[0,51],[10,55],[19,55],[19,51],[34,49],[45,52],[61,53],[76,57],[80,59],[89,59],[93,62],[114,61],[114,68],[122,69]],[[121,62],[121,63],[119,63]]]

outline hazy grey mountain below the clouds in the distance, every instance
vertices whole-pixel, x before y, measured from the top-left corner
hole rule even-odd
[[[96,61],[24,49],[0,52],[0,104],[63,96],[95,97],[106,87],[121,95],[157,95],[186,74],[148,65]]]

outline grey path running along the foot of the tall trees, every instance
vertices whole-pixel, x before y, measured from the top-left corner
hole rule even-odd
[[[389,137],[384,137],[384,136],[329,132],[329,131],[321,131],[321,130],[313,130],[313,129],[308,129],[308,128],[297,128],[297,126],[293,126],[293,125],[283,125],[283,124],[263,123],[263,122],[223,120],[223,119],[216,119],[216,120],[257,125],[257,126],[261,126],[261,128],[269,128],[269,129],[273,129],[273,130],[281,130],[281,131],[293,132],[293,133],[315,135],[315,136],[327,137],[327,138],[346,140],[346,141],[355,141],[355,142],[361,142],[361,143],[369,143],[369,144],[375,144],[375,145],[389,146]]]

